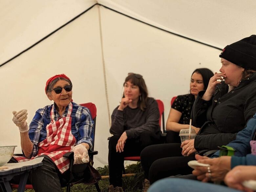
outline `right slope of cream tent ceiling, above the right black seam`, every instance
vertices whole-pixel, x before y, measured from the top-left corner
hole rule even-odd
[[[223,48],[256,33],[255,0],[99,0],[169,31]]]

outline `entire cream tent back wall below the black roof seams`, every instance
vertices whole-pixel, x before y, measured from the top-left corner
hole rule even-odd
[[[17,42],[17,47],[20,44]],[[10,44],[10,47],[15,46]],[[102,62],[102,50],[105,63]],[[221,67],[219,54],[217,49],[95,6],[0,68],[4,82],[0,145],[17,145],[15,152],[21,152],[18,128],[11,121],[12,111],[28,109],[27,121],[30,122],[38,108],[52,104],[44,93],[46,80],[55,74],[65,73],[74,85],[74,101],[96,104],[95,149],[99,154],[95,156],[95,166],[107,165],[107,137],[110,136],[107,102],[111,114],[119,104],[122,84],[128,72],[143,75],[149,96],[164,102],[167,120],[171,97],[189,92],[194,69],[207,67],[218,72]]]

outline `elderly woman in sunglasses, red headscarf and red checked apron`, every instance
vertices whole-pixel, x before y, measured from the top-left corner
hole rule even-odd
[[[75,164],[89,162],[88,150],[93,146],[93,120],[88,108],[72,102],[72,83],[64,74],[48,79],[45,93],[52,105],[38,109],[30,126],[27,110],[13,112],[18,126],[24,156],[13,156],[11,162],[44,157],[43,166],[30,173],[35,191],[62,191],[69,159],[66,152],[74,151]]]

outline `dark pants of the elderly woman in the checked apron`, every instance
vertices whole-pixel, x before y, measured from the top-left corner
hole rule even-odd
[[[70,178],[70,172],[65,171],[61,174],[57,166],[53,161],[46,155],[39,157],[44,157],[43,165],[39,166],[37,169],[33,169],[29,173],[29,181],[27,184],[32,184],[36,192],[62,192],[61,187],[66,186],[68,179]],[[17,161],[12,157],[8,163],[17,163]],[[75,165],[74,173],[75,177],[83,174],[83,171],[87,168],[86,164]],[[11,183],[18,184],[20,180],[20,175],[13,177]]]

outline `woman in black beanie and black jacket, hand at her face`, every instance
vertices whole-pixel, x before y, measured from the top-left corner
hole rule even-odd
[[[192,124],[200,127],[195,139],[179,144],[149,146],[141,152],[141,164],[150,183],[187,175],[187,162],[195,152],[227,145],[243,130],[256,111],[256,35],[227,45],[221,57],[220,73],[199,92],[192,110]],[[219,81],[222,80],[222,81]],[[161,149],[161,153],[159,150]],[[165,152],[164,152],[165,151]]]

